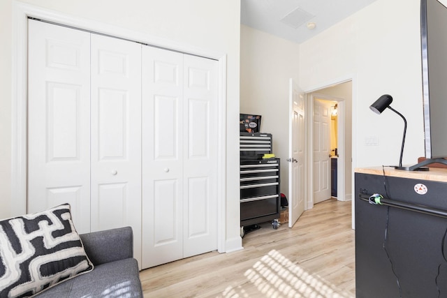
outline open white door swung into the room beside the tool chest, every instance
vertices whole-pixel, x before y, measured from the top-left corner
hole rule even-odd
[[[290,80],[291,135],[288,165],[288,226],[292,228],[305,211],[305,98]]]

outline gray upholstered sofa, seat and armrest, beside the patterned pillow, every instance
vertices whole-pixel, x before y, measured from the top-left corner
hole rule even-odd
[[[80,234],[93,271],[55,285],[35,297],[142,297],[130,227]]]

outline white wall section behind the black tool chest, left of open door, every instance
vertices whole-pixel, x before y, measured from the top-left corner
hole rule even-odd
[[[241,25],[240,112],[260,114],[281,158],[281,193],[288,195],[289,79],[298,82],[299,45]]]

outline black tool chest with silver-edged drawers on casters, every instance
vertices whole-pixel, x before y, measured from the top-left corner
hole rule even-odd
[[[273,221],[277,228],[281,196],[279,158],[272,153],[272,134],[240,133],[240,225]]]

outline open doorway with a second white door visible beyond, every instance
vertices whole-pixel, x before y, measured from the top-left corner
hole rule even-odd
[[[340,201],[349,201],[352,198],[352,81],[349,80],[330,87],[309,91],[306,96],[307,106],[311,110],[309,115],[312,115],[312,117],[308,117],[309,122],[307,123],[309,125],[307,158],[310,161],[309,165],[312,165],[307,169],[307,177],[311,180],[309,186],[312,186],[308,188],[307,206],[312,208],[314,204],[322,201],[318,197],[318,191],[323,188],[328,188],[323,194],[324,197],[327,197],[327,199],[334,197],[331,192],[331,182],[334,180],[331,176],[331,163],[334,162],[337,163],[337,170],[334,172],[337,176],[336,198]],[[328,146],[324,148],[323,153],[319,152],[321,149],[320,140],[314,137],[316,131],[321,129],[318,126],[318,119],[315,118],[318,111],[314,110],[314,105],[317,102],[326,107],[326,114],[334,112],[335,105],[337,105],[337,147],[333,146],[335,140],[331,140],[330,124],[328,124]],[[330,114],[328,115],[329,119],[331,119]],[[337,151],[335,151],[335,148],[337,148]],[[318,159],[318,156],[316,157],[317,152],[321,157],[325,157],[322,158],[324,161]],[[321,154],[324,154],[324,156]],[[337,158],[337,160],[332,161],[334,158]]]

